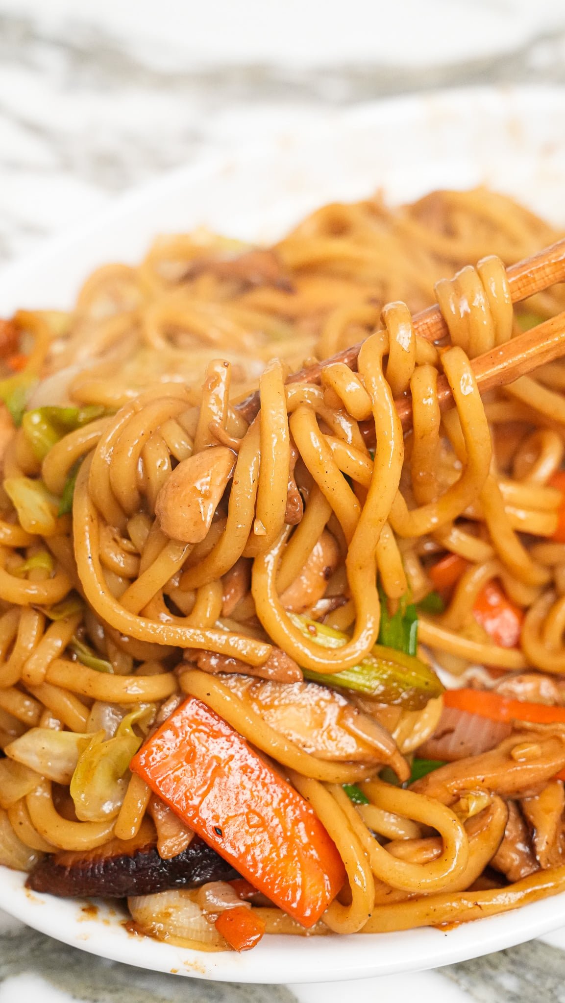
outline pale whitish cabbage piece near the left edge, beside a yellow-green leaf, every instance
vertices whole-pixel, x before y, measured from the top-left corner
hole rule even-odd
[[[70,783],[80,754],[91,738],[91,734],[77,731],[30,728],[6,745],[4,751],[10,759],[55,783]]]

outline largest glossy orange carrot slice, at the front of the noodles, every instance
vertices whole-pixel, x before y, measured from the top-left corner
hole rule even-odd
[[[148,739],[130,768],[302,926],[313,926],[342,887],[341,858],[307,801],[195,697]]]

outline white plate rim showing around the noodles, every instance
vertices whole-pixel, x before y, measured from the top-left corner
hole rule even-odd
[[[401,98],[336,115],[332,128],[177,172],[122,199],[76,234],[53,241],[0,278],[0,315],[65,307],[105,261],[135,262],[160,232],[201,224],[250,239],[276,237],[308,210],[376,188],[396,202],[433,188],[486,183],[565,223],[565,90],[505,88]],[[131,936],[101,904],[26,892],[0,868],[0,905],[86,951],[157,971],[237,982],[321,982],[434,968],[489,954],[565,924],[565,896],[449,932],[267,937],[249,954],[202,954]]]

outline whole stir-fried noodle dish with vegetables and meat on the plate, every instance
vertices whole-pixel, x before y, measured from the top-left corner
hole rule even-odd
[[[470,363],[565,307],[506,273],[558,236],[486,190],[374,198],[270,248],[161,237],[1,323],[29,889],[207,951],[565,889],[565,363],[482,395]]]

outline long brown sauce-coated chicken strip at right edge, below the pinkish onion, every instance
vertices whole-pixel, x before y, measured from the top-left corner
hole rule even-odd
[[[449,763],[428,773],[411,789],[444,804],[466,790],[492,790],[502,797],[529,796],[565,766],[565,736],[524,729],[496,749]]]

